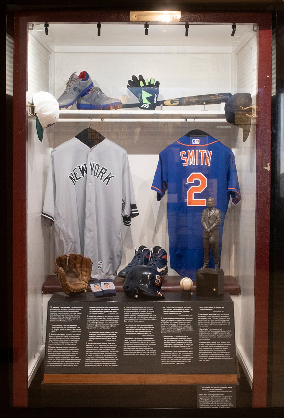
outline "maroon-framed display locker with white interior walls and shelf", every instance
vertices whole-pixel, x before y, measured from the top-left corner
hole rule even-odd
[[[146,12],[145,12],[146,13]],[[175,13],[176,15],[176,13]],[[138,16],[138,17],[137,17]],[[146,25],[146,26],[145,26]],[[253,406],[266,402],[269,270],[271,21],[266,13],[182,13],[175,21],[135,13],[19,13],[14,37],[13,280],[14,405],[26,406],[27,388],[44,356],[47,301],[42,291],[53,275],[53,227],[41,213],[51,150],[91,127],[127,151],[139,216],[122,224],[119,270],[135,247],[159,245],[171,265],[167,194],[151,190],[159,154],[198,129],[233,152],[241,200],[226,212],[221,268],[241,291],[234,302],[236,355],[253,390]],[[155,110],[60,110],[38,139],[30,111],[33,94],[56,99],[74,72],[87,71],[94,86],[122,104],[137,98],[127,89],[132,75],[160,82]],[[176,105],[178,97],[251,95],[250,131],[229,123],[225,102]],[[123,106],[122,106],[123,107]],[[204,204],[203,204],[204,206]],[[191,226],[194,228],[194,224]],[[201,267],[201,266],[200,266]],[[193,277],[195,281],[196,278]],[[25,297],[23,297],[25,295]]]

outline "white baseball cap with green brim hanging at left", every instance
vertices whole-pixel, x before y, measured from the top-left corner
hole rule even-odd
[[[33,94],[33,104],[36,113],[36,131],[38,139],[42,142],[43,130],[59,119],[59,103],[52,94],[38,92]]]

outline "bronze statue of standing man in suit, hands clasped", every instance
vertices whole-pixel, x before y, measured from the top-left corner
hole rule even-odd
[[[219,231],[218,225],[221,221],[221,211],[214,207],[213,197],[208,197],[207,208],[203,210],[201,216],[201,223],[203,225],[203,266],[201,268],[208,268],[210,258],[210,248],[213,252],[214,269],[219,268],[220,252],[219,252]]]

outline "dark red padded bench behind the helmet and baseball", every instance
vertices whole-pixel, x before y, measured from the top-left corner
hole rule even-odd
[[[162,282],[162,292],[180,292],[180,280],[181,276],[167,276],[163,278]],[[123,292],[123,280],[120,277],[116,277],[114,280],[114,285],[117,292]],[[61,285],[56,278],[56,275],[47,276],[46,280],[44,281],[42,288],[42,293],[58,293],[62,292]],[[193,283],[192,291],[196,291],[196,282]],[[91,292],[90,286],[87,288],[87,292]],[[233,276],[225,276],[224,275],[224,292],[229,293],[229,295],[239,295],[241,293],[241,288]]]

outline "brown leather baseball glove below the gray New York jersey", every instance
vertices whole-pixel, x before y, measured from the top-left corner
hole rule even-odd
[[[68,259],[68,260],[67,260]],[[89,257],[81,254],[59,255],[53,270],[66,295],[76,296],[87,289],[92,270]]]

